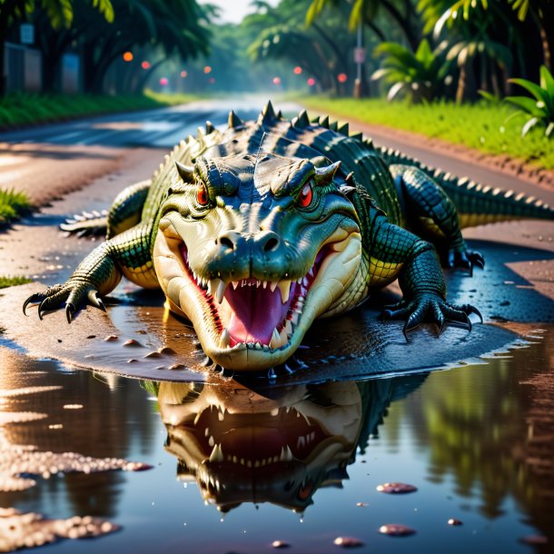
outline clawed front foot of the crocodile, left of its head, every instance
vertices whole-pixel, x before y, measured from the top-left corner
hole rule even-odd
[[[29,296],[23,304],[23,312],[27,315],[25,312],[27,306],[31,303],[38,303],[38,317],[42,320],[45,312],[60,308],[64,302],[65,317],[68,323],[71,323],[76,310],[87,302],[104,312],[106,311],[104,302],[98,296],[98,291],[93,284],[69,280],[64,284],[54,284],[43,292],[36,292]]]

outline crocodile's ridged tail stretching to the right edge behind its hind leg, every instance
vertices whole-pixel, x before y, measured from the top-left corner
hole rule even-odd
[[[485,223],[499,223],[519,219],[545,219],[554,221],[554,209],[549,204],[524,193],[504,191],[456,177],[432,168],[398,150],[378,148],[387,163],[402,163],[419,167],[450,196],[460,218],[460,227],[473,227]]]

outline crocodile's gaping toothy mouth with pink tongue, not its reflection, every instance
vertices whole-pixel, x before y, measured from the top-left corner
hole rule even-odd
[[[189,265],[184,242],[183,266],[188,277],[209,306],[213,326],[219,333],[219,348],[247,347],[265,351],[283,349],[289,343],[301,317],[306,295],[331,248],[322,248],[307,272],[296,280],[262,281],[248,277],[224,282],[205,279]]]

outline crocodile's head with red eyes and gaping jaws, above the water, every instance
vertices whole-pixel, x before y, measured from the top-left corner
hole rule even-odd
[[[177,163],[153,262],[214,362],[281,364],[316,317],[351,302],[361,234],[339,165],[270,153]]]

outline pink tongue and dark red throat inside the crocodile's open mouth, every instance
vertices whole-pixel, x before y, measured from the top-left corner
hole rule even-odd
[[[294,283],[291,287],[289,300],[281,303],[281,291],[276,288],[271,291],[256,286],[227,287],[225,300],[232,308],[231,319],[227,331],[235,342],[261,342],[269,344],[273,329],[284,320],[291,305]]]

